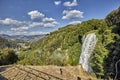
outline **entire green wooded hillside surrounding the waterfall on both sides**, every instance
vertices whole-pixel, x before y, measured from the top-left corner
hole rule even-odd
[[[78,65],[83,36],[92,32],[98,37],[97,45],[91,55],[93,72],[97,78],[114,78],[115,64],[120,59],[120,8],[112,11],[105,19],[92,19],[81,24],[68,25],[47,34],[44,38],[31,43],[30,47],[21,49],[17,63]],[[17,56],[12,62],[16,60]],[[120,72],[120,69],[118,71]],[[120,79],[120,76],[117,78]]]

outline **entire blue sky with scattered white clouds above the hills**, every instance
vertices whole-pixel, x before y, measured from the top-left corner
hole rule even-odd
[[[46,34],[71,23],[103,19],[120,0],[0,0],[0,34]]]

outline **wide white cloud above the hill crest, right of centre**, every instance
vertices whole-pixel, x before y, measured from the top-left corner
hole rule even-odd
[[[83,18],[83,12],[79,10],[64,10],[63,14],[65,16],[62,17],[62,19],[78,19],[78,18]]]

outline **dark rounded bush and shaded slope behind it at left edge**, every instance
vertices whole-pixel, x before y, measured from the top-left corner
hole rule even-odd
[[[0,37],[0,65],[8,65],[17,62],[18,56],[14,49],[20,48],[16,41]]]

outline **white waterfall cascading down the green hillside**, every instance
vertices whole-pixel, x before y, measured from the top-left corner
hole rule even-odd
[[[98,39],[95,33],[91,33],[85,37],[85,40],[82,45],[82,53],[80,55],[79,63],[82,65],[83,69],[85,69],[87,72],[92,71],[89,58],[94,50],[97,40]]]

